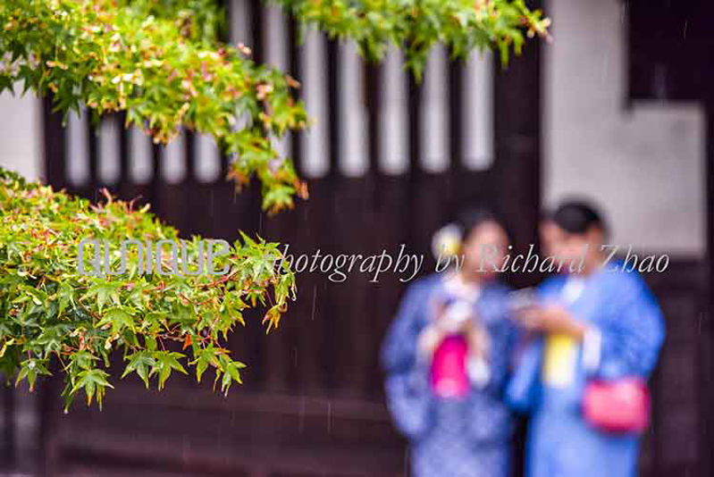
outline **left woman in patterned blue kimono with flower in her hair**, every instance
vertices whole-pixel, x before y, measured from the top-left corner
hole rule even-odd
[[[507,477],[513,424],[502,393],[517,329],[508,288],[479,264],[484,247],[498,263],[508,237],[484,210],[459,223],[458,270],[409,286],[384,339],[387,404],[409,441],[412,475]]]

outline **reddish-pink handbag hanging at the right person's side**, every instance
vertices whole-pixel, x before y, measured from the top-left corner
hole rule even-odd
[[[590,381],[585,387],[585,420],[601,431],[641,433],[650,423],[650,392],[641,378]]]

